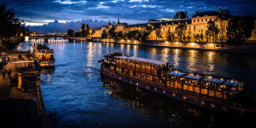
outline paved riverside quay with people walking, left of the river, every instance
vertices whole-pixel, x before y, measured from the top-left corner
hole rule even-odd
[[[27,51],[8,51],[9,61],[4,65],[6,71],[3,80],[2,71],[0,72],[0,127],[19,127],[19,128],[42,128],[42,119],[39,116],[36,85],[28,88],[28,92],[21,92],[17,86],[8,86],[7,70],[11,68],[13,76],[15,64],[18,60],[18,54],[24,54]],[[25,58],[24,58],[25,59]]]

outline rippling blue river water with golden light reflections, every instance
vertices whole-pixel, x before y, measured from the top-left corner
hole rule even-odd
[[[256,93],[255,55],[108,43],[50,45],[56,67],[41,71],[41,91],[47,114],[57,110],[57,127],[244,126],[245,121],[100,75],[97,60],[110,51],[171,61],[176,69],[242,79],[244,90]]]

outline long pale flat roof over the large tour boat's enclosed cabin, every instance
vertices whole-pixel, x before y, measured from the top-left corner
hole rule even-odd
[[[130,56],[114,56],[114,57],[120,58],[120,59],[126,59],[126,60],[136,60],[136,61],[148,62],[151,64],[157,64],[157,65],[168,63],[167,61],[146,59],[146,58],[140,58],[140,57],[130,57]]]

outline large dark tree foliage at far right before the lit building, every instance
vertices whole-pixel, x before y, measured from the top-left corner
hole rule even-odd
[[[228,21],[227,26],[227,42],[229,43],[244,43],[250,38],[252,30],[255,28],[255,17],[235,17]]]

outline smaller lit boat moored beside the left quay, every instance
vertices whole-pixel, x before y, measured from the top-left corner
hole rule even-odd
[[[35,56],[39,61],[39,66],[41,68],[51,68],[55,67],[55,59],[53,58],[54,50],[49,49],[47,45],[36,44]]]

